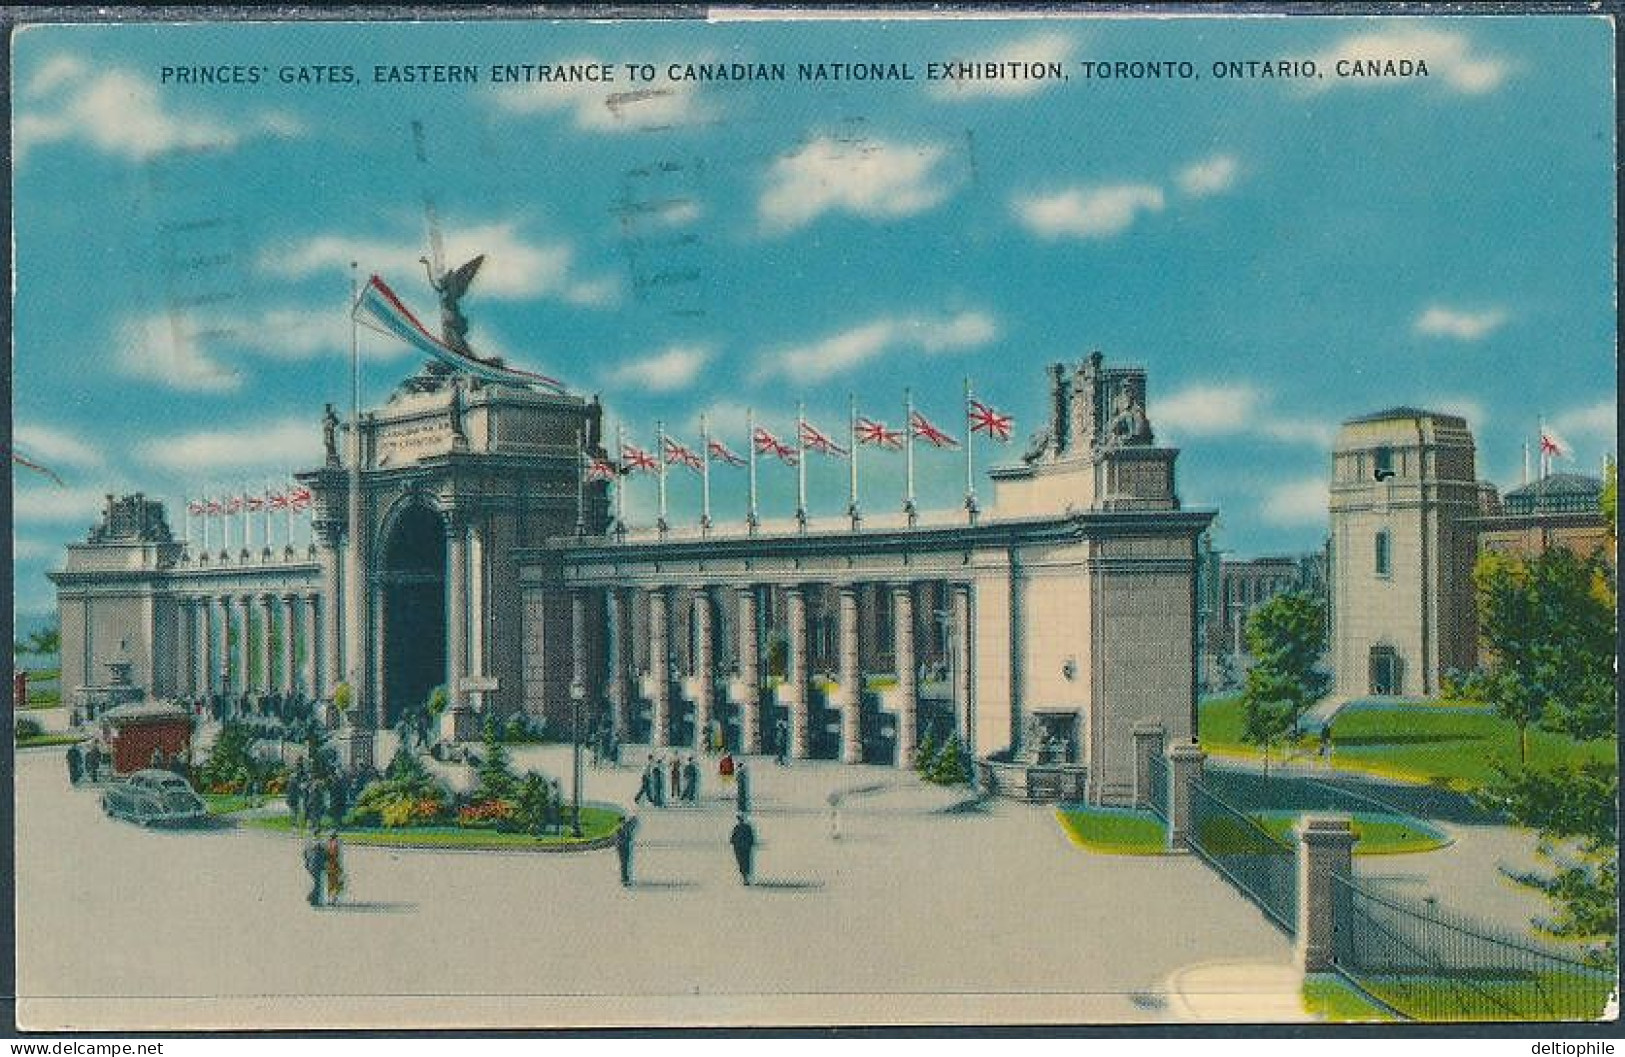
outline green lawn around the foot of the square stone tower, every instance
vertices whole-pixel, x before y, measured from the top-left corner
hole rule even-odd
[[[1201,704],[1201,743],[1216,753],[1259,756],[1242,743],[1240,698]],[[1313,755],[1318,737],[1297,743]],[[1508,720],[1459,702],[1357,704],[1332,720],[1332,768],[1362,771],[1458,790],[1484,785],[1495,763],[1516,766],[1518,729]],[[1279,755],[1279,748],[1276,750]],[[1573,742],[1545,730],[1529,732],[1529,763],[1537,768],[1584,759],[1614,759],[1612,742]]]

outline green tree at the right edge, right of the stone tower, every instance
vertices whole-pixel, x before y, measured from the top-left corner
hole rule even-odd
[[[1529,727],[1581,742],[1612,737],[1614,571],[1601,556],[1554,548],[1534,558],[1484,551],[1472,569],[1479,634],[1488,665],[1462,689],[1518,727],[1518,763]]]

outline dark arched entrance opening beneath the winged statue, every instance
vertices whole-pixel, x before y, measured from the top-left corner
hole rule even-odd
[[[445,683],[445,524],[406,509],[384,546],[384,714],[390,725]]]

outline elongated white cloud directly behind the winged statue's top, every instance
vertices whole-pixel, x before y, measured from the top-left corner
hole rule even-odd
[[[486,262],[468,288],[473,299],[559,298],[572,304],[604,306],[619,296],[616,280],[608,276],[583,280],[575,273],[575,249],[570,244],[531,242],[517,231],[514,223],[479,224],[447,233],[445,260],[448,268],[455,268],[478,254],[484,254]],[[265,250],[260,254],[258,268],[283,278],[323,273],[332,276],[348,275],[349,263],[358,262],[362,272],[384,276],[410,306],[421,307],[424,301],[429,301],[427,275],[419,260],[426,255],[422,244],[414,241],[388,242],[322,234],[291,247]],[[424,291],[424,298],[414,298],[413,291]]]

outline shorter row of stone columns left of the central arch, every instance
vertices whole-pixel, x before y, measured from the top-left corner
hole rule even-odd
[[[320,657],[327,615],[318,592],[184,595],[176,608],[180,694],[332,693]]]

